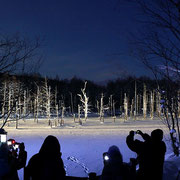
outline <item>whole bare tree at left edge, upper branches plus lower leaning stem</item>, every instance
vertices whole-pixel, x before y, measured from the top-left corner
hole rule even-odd
[[[21,36],[20,34],[14,34],[11,36],[0,34],[0,74],[2,78],[7,77],[9,74],[25,73],[36,71],[41,64],[41,58],[38,57],[38,50],[40,48],[40,39],[36,38],[30,40]],[[5,87],[4,87],[5,88]],[[6,87],[7,88],[7,87]],[[6,89],[5,88],[5,89]],[[4,91],[5,93],[5,91]],[[17,101],[20,92],[15,94],[14,90],[9,90],[8,109],[5,112],[5,105],[7,102],[3,102],[2,117],[5,117],[2,127],[8,122],[8,118],[13,112],[13,108],[16,104],[10,99],[12,96],[13,101]],[[4,99],[5,100],[5,99]],[[6,100],[5,100],[6,101]],[[22,108],[22,107],[21,107]]]

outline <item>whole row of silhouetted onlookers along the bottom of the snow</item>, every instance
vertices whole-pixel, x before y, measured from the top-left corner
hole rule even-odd
[[[135,138],[142,136],[143,141]],[[119,148],[111,146],[103,153],[104,167],[102,174],[90,173],[91,180],[162,180],[166,145],[163,141],[163,131],[156,129],[151,135],[140,130],[130,131],[126,138],[127,146],[137,153],[137,158],[131,158],[129,163],[123,162]],[[45,138],[39,153],[33,155],[26,165],[27,152],[24,143],[19,145],[19,153],[10,151],[6,143],[0,145],[0,180],[18,180],[17,170],[24,168],[25,180],[65,180],[87,179],[66,176],[61,147],[55,136]],[[139,168],[137,170],[137,165]]]

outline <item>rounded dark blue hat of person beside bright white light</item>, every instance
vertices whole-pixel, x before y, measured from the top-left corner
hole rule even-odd
[[[108,154],[112,161],[123,162],[122,154],[117,146],[115,145],[111,146],[108,150]]]

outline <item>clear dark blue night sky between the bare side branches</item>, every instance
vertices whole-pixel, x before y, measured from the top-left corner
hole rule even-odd
[[[135,8],[116,0],[3,0],[0,31],[45,37],[40,73],[104,81],[147,75],[128,56],[127,32],[137,27]]]

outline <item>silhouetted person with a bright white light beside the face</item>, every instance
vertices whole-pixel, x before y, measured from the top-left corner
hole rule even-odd
[[[111,146],[108,152],[103,154],[103,158],[102,180],[133,180],[131,167],[123,163],[122,154],[117,146]]]

